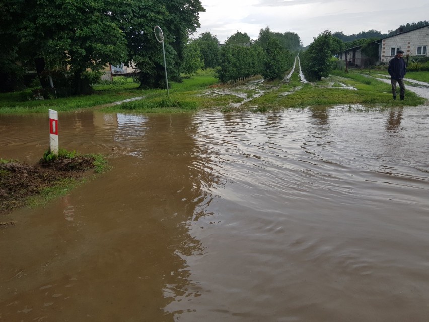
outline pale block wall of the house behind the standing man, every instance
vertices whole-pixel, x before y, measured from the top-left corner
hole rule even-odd
[[[400,48],[405,55],[417,56],[417,46],[426,46],[429,49],[429,26],[417,30],[405,32],[382,40],[381,61],[389,61],[391,48]]]

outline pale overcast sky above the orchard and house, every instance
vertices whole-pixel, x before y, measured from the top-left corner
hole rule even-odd
[[[295,32],[304,46],[326,29],[345,35],[375,29],[387,33],[401,24],[429,20],[427,0],[201,0],[201,28],[221,43],[238,31],[253,40],[269,26],[275,32]]]

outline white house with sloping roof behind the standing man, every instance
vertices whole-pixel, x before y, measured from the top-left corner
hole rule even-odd
[[[404,56],[427,57],[429,25],[405,32],[401,32],[401,28],[399,28],[396,35],[380,39],[377,43],[379,44],[380,62],[388,62],[398,50],[402,50]]]

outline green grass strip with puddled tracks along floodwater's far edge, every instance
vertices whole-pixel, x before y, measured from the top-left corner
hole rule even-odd
[[[253,78],[233,85],[221,85],[213,71],[204,71],[185,77],[181,83],[172,82],[169,95],[166,90],[135,88],[138,84],[123,79],[115,84],[95,86],[93,95],[67,99],[17,102],[19,93],[0,94],[0,113],[47,112],[49,108],[69,111],[94,106],[98,106],[102,112],[125,113],[180,113],[199,109],[267,111],[319,105],[416,106],[425,102],[425,99],[411,91],[407,91],[406,101],[394,102],[390,85],[365,75],[365,71],[345,73],[335,70],[331,77],[323,81],[302,83],[296,69],[287,82],[276,80],[260,83],[254,82],[257,78]],[[427,74],[409,74],[419,73]],[[144,99],[103,106],[133,97]],[[237,108],[236,105],[241,103]]]

